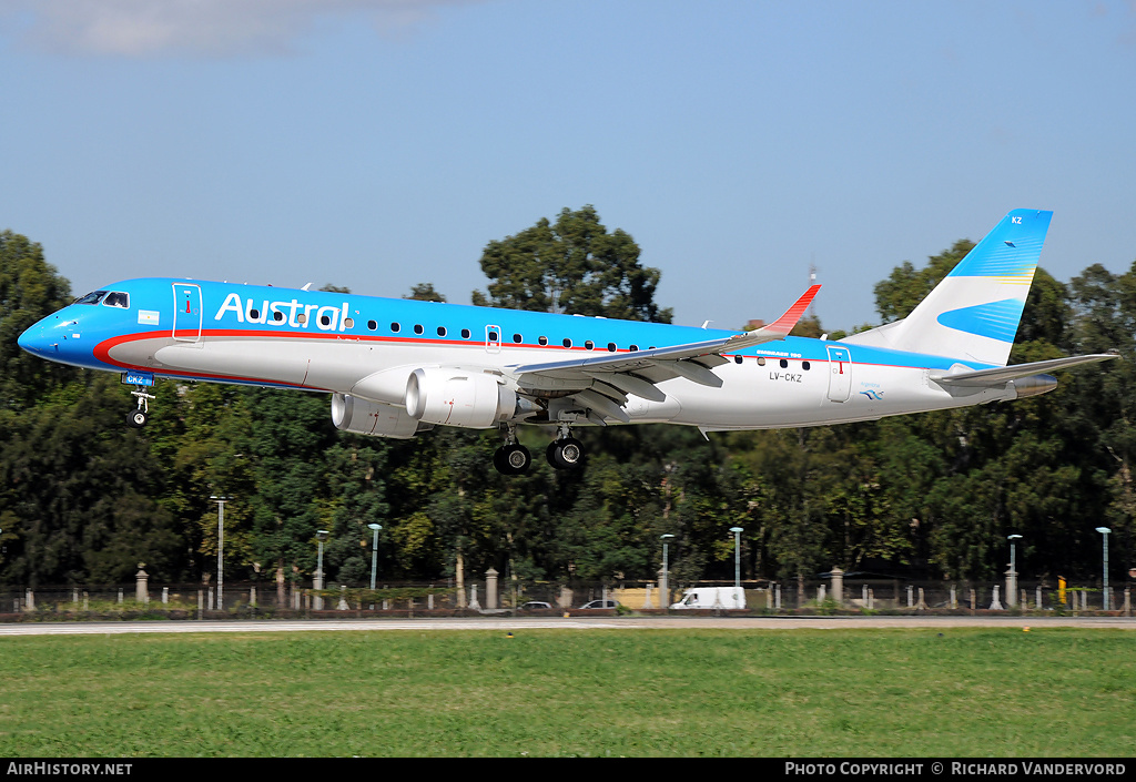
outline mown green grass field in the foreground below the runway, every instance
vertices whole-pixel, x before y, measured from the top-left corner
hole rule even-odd
[[[0,641],[0,756],[1130,756],[1136,633]]]

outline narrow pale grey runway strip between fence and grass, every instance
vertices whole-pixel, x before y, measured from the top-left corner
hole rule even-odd
[[[384,630],[869,630],[882,627],[1093,627],[1136,630],[1136,617],[783,616],[485,617],[423,619],[27,622],[0,624],[0,637],[128,633],[294,633]]]

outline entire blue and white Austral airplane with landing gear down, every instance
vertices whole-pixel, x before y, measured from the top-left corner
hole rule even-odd
[[[49,315],[19,347],[122,374],[142,426],[154,378],[331,393],[348,432],[409,439],[500,430],[493,464],[528,471],[519,424],[556,431],[545,458],[580,466],[578,426],[709,432],[875,421],[1033,397],[1050,372],[1006,366],[1052,211],[1014,209],[902,321],[830,341],[790,336],[819,285],[751,332],[178,278],[114,283]],[[703,324],[705,326],[705,324]],[[708,438],[709,439],[709,438]]]

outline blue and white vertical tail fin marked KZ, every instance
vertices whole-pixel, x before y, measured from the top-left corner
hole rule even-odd
[[[1014,209],[908,317],[843,341],[1005,366],[1051,217]]]

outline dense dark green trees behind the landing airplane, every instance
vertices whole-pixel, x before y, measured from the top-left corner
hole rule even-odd
[[[876,288],[880,323],[909,313],[970,249],[959,241],[921,268],[904,261]],[[669,322],[658,269],[592,207],[490,242],[476,303],[566,308]],[[339,289],[342,290],[342,289]],[[408,298],[444,298],[429,283]],[[1088,266],[1068,283],[1038,269],[1011,363],[1120,350],[1126,360],[1062,373],[1051,393],[1009,404],[815,429],[688,427],[584,432],[580,471],[534,460],[524,476],[492,467],[496,432],[438,427],[410,441],[336,431],[326,394],[159,381],[143,430],[127,427],[126,389],[109,373],[50,364],[18,334],[69,303],[42,248],[0,233],[0,583],[200,582],[216,572],[225,507],[226,580],[283,591],[310,583],[316,531],[329,531],[328,581],[378,571],[440,580],[495,567],[533,581],[653,580],[673,534],[673,580],[845,571],[993,580],[1021,534],[1024,580],[1101,571],[1112,529],[1113,580],[1134,558],[1136,454],[1133,334],[1136,264]],[[878,325],[878,324],[876,324]],[[867,327],[867,325],[861,326]],[[819,335],[815,318],[799,333]],[[841,335],[833,332],[833,339]],[[528,431],[532,430],[532,431]],[[548,435],[520,427],[534,451]]]

